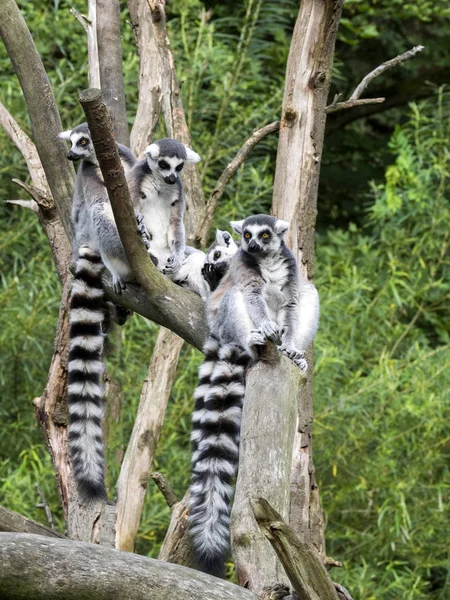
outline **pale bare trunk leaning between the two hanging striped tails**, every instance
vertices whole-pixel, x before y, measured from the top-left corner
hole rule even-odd
[[[161,328],[117,481],[116,547],[132,551],[183,340]],[[176,498],[175,498],[176,502]]]

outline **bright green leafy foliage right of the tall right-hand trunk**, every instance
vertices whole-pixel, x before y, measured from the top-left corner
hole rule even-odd
[[[397,128],[365,231],[318,239],[315,461],[353,597],[448,597],[449,103]]]

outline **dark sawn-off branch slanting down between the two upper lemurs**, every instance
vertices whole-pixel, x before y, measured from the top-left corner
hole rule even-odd
[[[198,347],[206,335],[203,303],[199,296],[166,279],[149,260],[139,238],[136,217],[116,148],[108,111],[100,90],[84,90],[80,102],[92,136],[97,159],[108,190],[114,218],[130,266],[151,307],[151,318]],[[114,296],[110,294],[114,299]],[[127,299],[115,299],[131,308]],[[138,310],[138,312],[141,312]]]

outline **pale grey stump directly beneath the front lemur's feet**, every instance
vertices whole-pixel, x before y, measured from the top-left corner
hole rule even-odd
[[[275,581],[285,582],[286,576],[249,502],[265,495],[288,518],[300,381],[298,367],[279,355],[273,344],[246,377],[231,539],[238,581],[257,594]]]

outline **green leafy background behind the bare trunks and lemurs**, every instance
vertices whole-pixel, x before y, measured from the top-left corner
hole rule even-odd
[[[84,3],[20,2],[54,86],[64,128],[82,120],[84,32],[69,12]],[[251,131],[279,116],[298,3],[173,0],[169,31],[204,189]],[[138,58],[123,3],[130,124]],[[327,123],[317,227],[315,466],[333,578],[358,599],[445,599],[450,594],[449,227],[450,77],[447,1],[348,0],[330,98],[343,97],[384,60],[425,50],[376,80],[377,112]],[[1,100],[29,132],[17,80],[0,48]],[[380,108],[382,110],[380,110]],[[387,110],[385,110],[385,108]],[[161,127],[159,133],[164,133]],[[21,156],[0,132],[2,200],[20,197]],[[215,225],[267,211],[276,137],[266,138],[230,182]],[[43,521],[34,484],[63,529],[49,457],[32,400],[45,385],[59,304],[51,255],[33,214],[0,205],[0,502]],[[108,463],[130,434],[156,335],[134,316],[110,355],[124,394]],[[188,484],[192,390],[200,354],[184,347],[154,463],[181,496]],[[149,485],[137,541],[156,556],[169,520]]]

